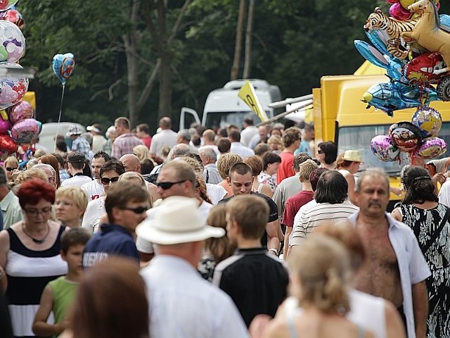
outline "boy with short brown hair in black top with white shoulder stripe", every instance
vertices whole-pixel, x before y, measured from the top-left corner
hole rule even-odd
[[[259,196],[238,195],[226,204],[226,231],[236,253],[219,263],[212,283],[231,296],[245,324],[255,315],[275,315],[289,277],[282,261],[261,246],[269,206]]]

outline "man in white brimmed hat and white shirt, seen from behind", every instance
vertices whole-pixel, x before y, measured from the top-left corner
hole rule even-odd
[[[233,301],[197,270],[203,241],[224,229],[205,224],[195,199],[169,196],[155,218],[137,228],[156,244],[157,255],[141,270],[150,304],[150,337],[248,337]]]

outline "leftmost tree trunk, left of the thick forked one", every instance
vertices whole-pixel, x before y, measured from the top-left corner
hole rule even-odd
[[[130,20],[134,25],[136,23],[139,1],[133,1],[131,5]],[[139,76],[138,76],[138,60],[136,46],[136,30],[131,28],[128,35],[124,35],[125,55],[127,56],[127,80],[128,80],[128,117],[131,126],[136,125],[139,118],[139,111],[136,104],[139,97]]]

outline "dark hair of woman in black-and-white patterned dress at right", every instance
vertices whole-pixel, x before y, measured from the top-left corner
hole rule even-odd
[[[403,204],[423,204],[425,201],[437,202],[439,199],[435,194],[430,174],[425,168],[411,165],[401,175],[401,183],[406,190]]]

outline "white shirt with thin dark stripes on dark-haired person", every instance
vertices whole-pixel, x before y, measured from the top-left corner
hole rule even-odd
[[[357,206],[351,204],[347,199],[344,203],[330,204],[319,203],[313,208],[300,215],[300,220],[293,230],[293,241],[291,245],[299,245],[314,230],[314,227],[331,220],[345,220],[352,213],[359,211]]]

